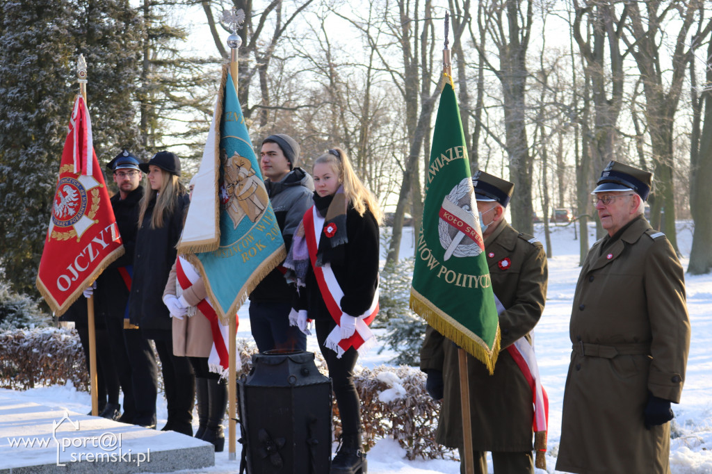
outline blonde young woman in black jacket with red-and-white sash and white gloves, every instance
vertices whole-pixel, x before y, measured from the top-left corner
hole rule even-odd
[[[295,233],[285,266],[299,287],[290,322],[308,334],[314,320],[339,408],[341,444],[332,474],[366,472],[360,399],[353,381],[358,351],[372,344],[377,313],[382,212],[342,149],[316,159],[314,206]]]

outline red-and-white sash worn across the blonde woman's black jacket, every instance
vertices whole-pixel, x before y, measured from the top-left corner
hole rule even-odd
[[[311,209],[308,209],[304,214],[304,233],[309,250],[309,259],[311,260],[314,275],[326,307],[336,322],[336,327],[326,338],[325,346],[335,351],[339,358],[349,347],[354,347],[359,354],[362,354],[375,344],[373,332],[369,329],[368,325],[371,324],[371,321],[374,320],[378,314],[378,290],[376,290],[373,296],[373,301],[369,309],[362,315],[356,317],[356,332],[354,332],[354,335],[348,339],[341,339],[341,315],[346,314],[341,310],[340,306],[344,292],[336,280],[331,265],[327,263],[323,267],[320,267],[316,264],[316,254],[319,248],[321,234],[323,233],[324,220],[323,217],[319,216],[315,206],[312,206]]]

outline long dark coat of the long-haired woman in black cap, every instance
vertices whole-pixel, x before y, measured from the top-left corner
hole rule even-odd
[[[151,228],[156,204],[153,199],[136,234],[134,278],[131,286],[129,314],[147,339],[171,339],[171,318],[163,304],[163,290],[176,261],[176,244],[183,229],[187,194],[175,197],[174,212],[164,218],[163,227]]]

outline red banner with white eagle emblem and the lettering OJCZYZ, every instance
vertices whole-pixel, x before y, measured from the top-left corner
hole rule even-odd
[[[123,253],[94,152],[89,111],[78,95],[64,142],[37,288],[52,310],[61,315]]]

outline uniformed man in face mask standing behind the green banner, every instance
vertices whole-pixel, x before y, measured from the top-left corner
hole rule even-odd
[[[505,308],[499,315],[501,352],[494,374],[467,356],[475,473],[488,472],[486,452],[491,451],[495,473],[533,474],[532,390],[506,347],[521,337],[531,342],[529,332],[546,300],[546,253],[540,241],[515,231],[504,218],[514,184],[485,172],[477,172],[473,184],[492,289]],[[463,458],[457,348],[428,327],[420,357],[426,388],[434,399],[443,399],[436,441],[459,448]]]

